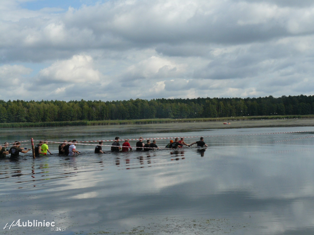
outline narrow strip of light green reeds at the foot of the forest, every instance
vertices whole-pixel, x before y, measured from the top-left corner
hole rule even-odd
[[[64,127],[64,126],[101,126],[101,125],[130,125],[130,124],[162,124],[162,123],[187,123],[187,122],[232,122],[240,120],[271,120],[271,119],[303,119],[314,118],[314,115],[284,115],[284,116],[246,116],[225,118],[156,118],[138,120],[103,120],[103,121],[67,121],[67,122],[42,122],[42,123],[0,123],[0,128],[22,127]],[[230,127],[231,128],[231,127]]]

